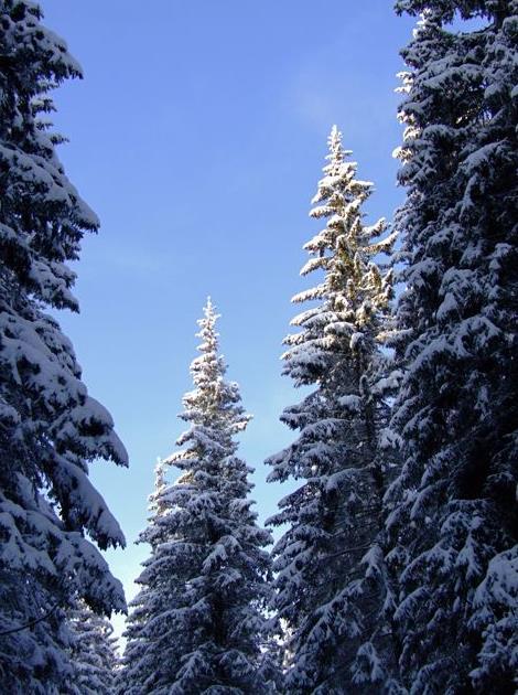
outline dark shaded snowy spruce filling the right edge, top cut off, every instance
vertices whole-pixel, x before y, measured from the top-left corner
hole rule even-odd
[[[404,464],[387,495],[400,676],[412,693],[514,693],[518,3],[397,8],[424,12],[400,111]],[[479,28],[453,32],[455,14]]]

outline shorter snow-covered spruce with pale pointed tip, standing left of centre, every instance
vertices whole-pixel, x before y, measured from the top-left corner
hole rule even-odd
[[[166,459],[182,474],[158,493],[141,538],[152,553],[125,656],[126,692],[136,695],[276,692],[262,652],[270,534],[256,524],[250,468],[236,456],[249,416],[237,384],[224,379],[216,319],[208,301],[181,415],[191,427]]]

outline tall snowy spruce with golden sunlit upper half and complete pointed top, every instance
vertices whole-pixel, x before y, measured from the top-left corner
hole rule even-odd
[[[300,332],[285,339],[284,373],[314,389],[281,419],[298,439],[271,457],[270,481],[302,484],[280,502],[269,523],[288,530],[273,549],[273,608],[287,627],[289,693],[368,692],[377,671],[371,641],[381,610],[381,499],[387,455],[381,434],[388,408],[379,391],[384,357],[377,342],[391,296],[390,272],[374,257],[389,252],[384,220],[364,224],[373,185],[357,180],[356,163],[333,127],[324,178],[310,215],[325,227],[304,248],[301,275],[322,281],[293,298],[313,302],[293,319]],[[361,683],[356,683],[355,677]]]

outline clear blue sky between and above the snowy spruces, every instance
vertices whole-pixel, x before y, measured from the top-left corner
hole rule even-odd
[[[109,554],[132,596],[148,549],[158,456],[182,431],[195,321],[207,295],[223,314],[228,376],[255,415],[241,455],[256,467],[263,520],[282,495],[263,459],[291,439],[278,421],[298,399],[280,376],[281,340],[326,138],[336,122],[369,217],[402,199],[392,150],[398,52],[412,22],[390,0],[42,0],[44,23],[80,62],[84,81],[55,93],[60,156],[101,220],[76,270],[82,313],[62,314],[91,395],[111,411],[129,470],[93,478],[128,539]]]

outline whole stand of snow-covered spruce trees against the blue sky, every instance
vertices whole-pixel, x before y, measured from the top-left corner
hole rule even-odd
[[[0,693],[517,692],[518,0],[395,12],[414,21],[404,202],[367,223],[337,113],[284,339],[290,443],[253,462],[277,512],[259,522],[209,298],[127,601],[105,555],[123,530],[89,472],[129,457],[60,324],[100,226],[51,122],[82,67],[44,2],[0,0]]]

